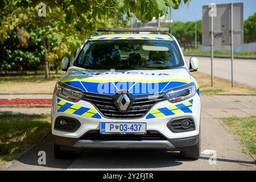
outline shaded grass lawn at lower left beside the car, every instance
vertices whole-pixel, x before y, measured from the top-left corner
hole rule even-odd
[[[50,115],[0,114],[0,168],[39,142],[51,128]]]

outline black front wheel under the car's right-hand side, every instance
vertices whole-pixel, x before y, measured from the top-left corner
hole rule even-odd
[[[199,132],[199,140],[195,146],[189,148],[188,151],[181,151],[180,157],[183,159],[199,159],[200,158],[200,143],[201,143],[201,132]]]

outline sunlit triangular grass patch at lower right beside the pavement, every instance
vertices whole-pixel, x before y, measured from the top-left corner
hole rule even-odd
[[[227,129],[236,135],[245,145],[248,154],[256,155],[256,117],[221,118]]]

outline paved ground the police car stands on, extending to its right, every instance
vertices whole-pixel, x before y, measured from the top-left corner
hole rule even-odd
[[[240,100],[240,102],[234,102]],[[254,159],[242,151],[220,117],[256,115],[256,96],[202,96],[201,157],[179,158],[179,152],[161,150],[86,150],[75,159],[55,159],[48,135],[17,162],[4,170],[256,170]],[[236,107],[236,109],[234,109]],[[46,110],[47,111],[47,110]],[[0,112],[1,113],[1,112]],[[216,151],[216,164],[209,152]],[[46,152],[46,165],[38,164],[38,152]]]

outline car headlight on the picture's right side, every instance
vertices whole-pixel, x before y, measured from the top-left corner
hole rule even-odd
[[[195,93],[196,84],[191,82],[190,84],[167,90],[167,92],[164,94],[164,98],[172,103],[175,103],[192,97],[195,95]]]

